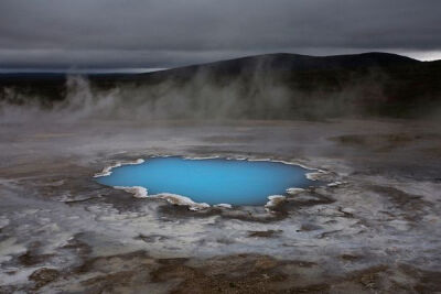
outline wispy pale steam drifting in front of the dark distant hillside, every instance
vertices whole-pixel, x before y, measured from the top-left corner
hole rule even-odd
[[[68,76],[62,99],[4,88],[0,121],[324,119],[363,116],[384,102],[379,80],[386,77],[380,72],[354,78],[338,90],[320,83],[301,90],[301,85],[269,73],[259,64],[234,78],[201,69],[185,79],[170,75],[158,83],[133,79],[107,87]]]

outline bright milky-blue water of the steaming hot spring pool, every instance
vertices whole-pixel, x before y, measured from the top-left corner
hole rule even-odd
[[[297,165],[269,161],[153,157],[142,164],[116,167],[98,182],[109,186],[141,186],[149,195],[171,193],[209,205],[265,205],[270,195],[312,185],[314,182],[305,177],[308,172]]]

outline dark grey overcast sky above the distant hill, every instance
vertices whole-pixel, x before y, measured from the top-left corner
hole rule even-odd
[[[441,58],[441,0],[0,0],[0,67],[174,67],[369,51]]]

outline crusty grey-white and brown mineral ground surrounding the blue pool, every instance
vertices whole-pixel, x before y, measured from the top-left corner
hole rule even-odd
[[[93,177],[152,155],[294,162],[325,184],[193,211]],[[0,197],[2,293],[441,291],[434,122],[2,123]]]

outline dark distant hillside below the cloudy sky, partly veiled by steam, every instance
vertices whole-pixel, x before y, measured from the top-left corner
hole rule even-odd
[[[149,89],[142,97],[147,100],[170,95],[171,88],[176,96],[182,87],[182,99],[187,99],[198,113],[211,107],[204,99],[217,99],[216,104],[225,108],[219,100],[228,99],[225,89],[230,89],[238,97],[234,102],[243,108],[236,112],[234,108],[224,109],[233,118],[424,117],[441,106],[441,61],[419,62],[387,53],[325,57],[280,53],[149,74],[88,78],[94,91]],[[64,99],[65,83],[63,75],[0,75],[3,99],[4,89],[12,88],[41,97],[46,105]],[[216,92],[219,96],[213,97]]]

